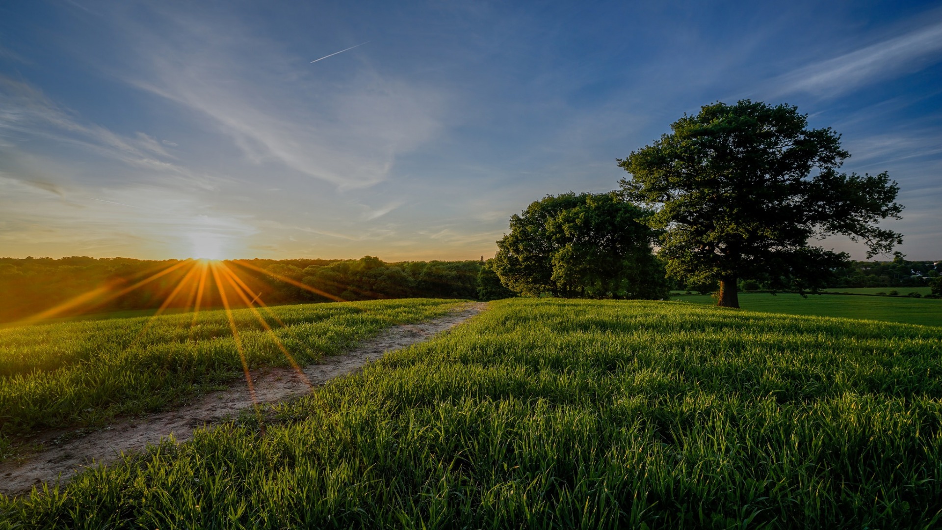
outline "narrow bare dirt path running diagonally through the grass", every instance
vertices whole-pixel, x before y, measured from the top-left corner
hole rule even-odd
[[[387,329],[346,354],[327,356],[322,364],[305,367],[304,376],[312,387],[323,385],[334,377],[359,370],[366,362],[385,352],[429,340],[432,335],[478,314],[485,306],[483,303],[467,304],[439,319]],[[255,399],[259,403],[282,402],[311,391],[304,378],[290,369],[256,371],[252,373],[252,379]],[[206,394],[191,404],[145,418],[116,422],[103,430],[61,444],[48,442],[65,431],[46,433],[39,439],[47,442],[43,451],[24,460],[11,459],[0,463],[0,493],[24,493],[43,482],[52,486],[57,480],[68,480],[92,463],[112,462],[122,453],[140,451],[147,444],[157,443],[171,434],[178,441],[185,441],[192,438],[193,429],[231,418],[251,406],[248,386],[244,381],[238,381],[229,389]]]

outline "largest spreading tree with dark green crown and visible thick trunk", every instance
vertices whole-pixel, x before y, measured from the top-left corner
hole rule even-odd
[[[720,281],[720,306],[739,307],[737,279],[817,290],[849,256],[809,244],[841,234],[888,253],[900,234],[899,187],[886,173],[837,173],[850,154],[830,127],[808,128],[788,105],[715,103],[619,165],[625,198],[653,209],[658,256],[674,278]]]

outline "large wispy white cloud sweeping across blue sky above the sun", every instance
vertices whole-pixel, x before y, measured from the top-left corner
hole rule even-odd
[[[275,162],[340,189],[364,188],[441,128],[443,95],[430,87],[363,62],[324,75],[320,64],[253,37],[238,19],[196,23],[171,10],[154,17],[160,24],[122,21],[131,28],[128,63],[136,65],[122,78],[195,111],[254,164]]]

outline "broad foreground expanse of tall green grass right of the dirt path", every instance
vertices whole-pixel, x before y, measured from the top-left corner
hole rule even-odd
[[[103,527],[919,527],[942,330],[512,300],[191,443],[0,505]]]

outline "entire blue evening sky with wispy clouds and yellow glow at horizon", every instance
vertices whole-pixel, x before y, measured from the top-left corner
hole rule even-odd
[[[942,257],[942,6],[866,1],[5,2],[0,255],[489,257],[740,98],[842,133]]]

